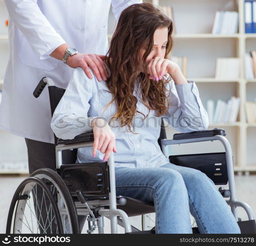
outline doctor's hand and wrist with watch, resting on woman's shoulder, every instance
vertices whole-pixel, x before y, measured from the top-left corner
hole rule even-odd
[[[68,44],[62,44],[58,48],[56,48],[50,54],[50,56],[58,60],[65,59],[67,65],[69,65],[72,68],[76,68],[78,66],[81,67],[89,79],[93,78],[92,73],[89,69],[90,67],[98,81],[107,80],[109,74],[105,63],[103,62],[106,59],[106,56],[97,54],[84,54],[77,52],[72,54],[72,49],[73,48],[70,48]]]

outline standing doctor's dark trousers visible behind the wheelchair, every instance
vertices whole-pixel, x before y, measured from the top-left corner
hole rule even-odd
[[[26,141],[26,145],[27,145],[27,149],[28,149],[29,173],[32,174],[37,169],[40,169],[43,167],[47,167],[47,168],[50,168],[55,171],[55,167],[56,167],[55,145],[28,139],[28,138],[25,138],[25,141]],[[68,152],[69,151],[62,151],[62,160],[63,160],[63,163],[65,163],[65,164],[69,163],[67,161],[68,160]],[[38,203],[41,201],[41,198],[42,198],[42,193],[38,192],[38,190],[37,190],[37,202]],[[47,201],[46,198],[45,198],[45,200]],[[35,202],[34,203],[35,210],[37,210],[38,205],[36,205],[36,199],[34,199],[34,202]],[[48,207],[48,206],[46,206],[46,207]],[[38,210],[37,210],[37,212],[38,212]],[[39,214],[39,213],[37,213],[37,214]],[[44,216],[45,217],[47,216],[45,206],[42,206],[41,215],[42,215],[42,218]],[[42,219],[42,218],[40,217],[40,219]],[[37,219],[40,223],[42,223],[42,221],[40,221],[39,218],[37,218]],[[82,230],[85,220],[86,220],[86,216],[78,215],[78,222],[80,225],[80,230]],[[45,220],[44,220],[44,222],[45,222]],[[40,232],[43,233],[42,230],[40,230]],[[53,232],[54,232],[54,229],[53,229]],[[47,233],[50,233],[50,232],[47,230]]]

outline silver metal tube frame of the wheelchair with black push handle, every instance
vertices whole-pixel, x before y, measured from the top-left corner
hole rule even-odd
[[[34,96],[38,97],[44,87],[48,86],[54,86],[54,83],[49,78],[42,78],[41,81],[38,83],[37,88],[34,91]],[[248,204],[245,202],[240,202],[236,200],[236,194],[235,194],[235,180],[234,180],[234,168],[233,168],[233,155],[232,155],[232,149],[228,142],[228,140],[222,136],[222,135],[215,135],[212,137],[196,137],[191,138],[189,136],[186,139],[177,140],[177,139],[166,139],[166,136],[164,136],[161,139],[161,150],[163,154],[168,158],[167,153],[167,146],[169,145],[175,145],[175,144],[184,144],[184,143],[195,143],[195,142],[204,142],[204,141],[216,141],[219,140],[224,148],[225,148],[225,156],[226,156],[226,166],[227,166],[227,177],[228,177],[228,187],[230,191],[230,199],[225,200],[227,204],[231,207],[231,211],[235,217],[236,220],[238,220],[237,216],[237,207],[242,207],[245,209],[249,220],[255,220],[255,215],[253,210],[250,208]],[[73,149],[79,149],[79,148],[86,148],[93,146],[93,141],[80,141],[80,142],[73,142],[73,143],[62,143],[57,144],[55,146],[56,151],[56,170],[60,169],[62,166],[62,151],[64,150],[73,150]],[[93,222],[92,228],[89,228],[89,233],[91,233],[95,228],[95,221],[97,221],[98,225],[98,231],[99,234],[104,233],[104,217],[106,216],[110,218],[110,229],[111,233],[115,234],[117,233],[117,225],[121,225],[124,227],[125,233],[131,233],[132,231],[140,231],[139,229],[131,226],[128,215],[121,209],[117,209],[117,198],[116,198],[116,190],[115,190],[115,169],[114,169],[114,156],[113,153],[110,154],[110,157],[107,161],[108,167],[109,167],[109,179],[110,179],[110,192],[109,192],[109,199],[107,200],[92,200],[92,201],[86,201],[82,193],[78,192],[76,193],[79,201],[74,201],[75,209],[77,212],[77,215],[89,215],[89,225],[91,225],[91,221]],[[56,171],[55,170],[55,171]],[[59,195],[58,195],[59,196]],[[59,200],[60,197],[58,197],[58,208],[61,213],[63,213],[64,210],[64,203]],[[125,204],[125,203],[124,203]],[[119,203],[119,205],[124,205],[122,203]],[[98,211],[97,219],[95,218],[95,214],[92,212],[90,206],[97,206]],[[105,209],[106,206],[109,206],[109,209]],[[65,212],[64,212],[65,213]],[[117,218],[119,216],[121,219]],[[87,231],[88,232],[88,231]]]

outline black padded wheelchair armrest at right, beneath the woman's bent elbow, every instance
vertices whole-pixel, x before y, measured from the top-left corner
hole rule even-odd
[[[214,128],[211,130],[204,130],[204,131],[192,131],[188,133],[176,133],[173,135],[173,140],[213,137],[215,135],[226,136],[226,133],[224,129],[220,129],[220,128]]]

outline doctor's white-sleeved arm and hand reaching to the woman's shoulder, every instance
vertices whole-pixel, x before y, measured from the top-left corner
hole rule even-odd
[[[9,16],[29,40],[39,59],[54,57],[62,60],[64,53],[70,47],[41,12],[37,0],[4,0]],[[52,10],[54,11],[54,10]],[[75,57],[75,58],[74,58]],[[72,58],[72,59],[71,59]],[[67,64],[70,67],[82,67],[89,78],[92,74],[90,66],[98,81],[108,75],[106,65],[102,60],[105,56],[96,54],[77,54],[69,57]],[[107,78],[106,78],[107,79]]]

